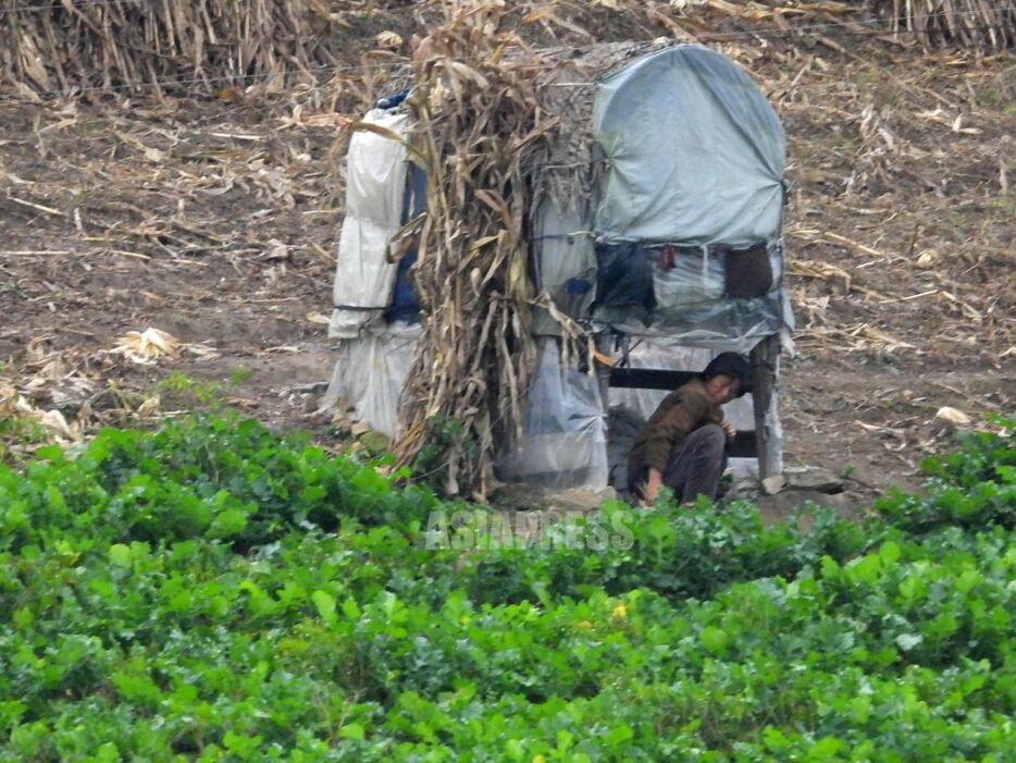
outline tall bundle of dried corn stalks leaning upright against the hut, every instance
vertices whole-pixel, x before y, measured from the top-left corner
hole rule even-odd
[[[449,493],[491,487],[495,443],[520,434],[535,360],[525,241],[526,168],[554,128],[535,79],[542,58],[500,23],[499,1],[449,2],[416,54],[411,155],[426,172],[413,285],[423,336],[404,389],[404,463],[434,446]],[[511,54],[507,53],[511,51]]]

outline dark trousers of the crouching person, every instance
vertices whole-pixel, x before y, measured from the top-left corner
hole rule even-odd
[[[716,501],[720,494],[720,478],[727,468],[723,448],[727,435],[718,424],[707,423],[690,432],[670,452],[664,469],[664,484],[670,488],[682,503],[705,495]],[[628,490],[642,497],[642,487],[649,468],[642,454],[634,454],[628,463]]]

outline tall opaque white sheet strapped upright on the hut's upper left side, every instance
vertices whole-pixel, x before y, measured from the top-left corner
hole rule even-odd
[[[405,136],[408,114],[373,109],[363,119]],[[392,300],[397,266],[387,262],[388,241],[401,225],[406,146],[359,131],[349,141],[346,217],[338,239],[329,336],[351,339],[379,322]]]

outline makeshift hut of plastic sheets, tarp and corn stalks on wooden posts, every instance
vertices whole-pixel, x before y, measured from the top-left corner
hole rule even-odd
[[[745,431],[735,455],[757,457],[763,477],[779,472],[778,354],[793,318],[784,136],[765,96],[716,50],[604,45],[515,64],[501,90],[528,94],[517,106],[529,121],[486,101],[475,106],[483,116],[458,116],[470,108],[464,87],[487,97],[500,86],[492,81],[504,60],[487,64],[418,72],[408,96],[379,101],[350,138],[330,328],[339,357],[326,401],[405,439],[413,416],[441,414],[433,387],[450,385],[448,374],[466,379],[463,399],[497,383],[497,404],[456,408],[482,423],[472,447],[491,452],[496,477],[597,489],[611,477],[623,484],[622,430],[713,355],[736,350],[751,354],[755,395],[728,406]],[[442,108],[460,121],[441,122]],[[517,119],[513,134],[496,119]],[[481,164],[504,169],[478,180]],[[441,188],[458,196],[449,202]],[[456,198],[484,204],[459,209]],[[493,229],[468,226],[481,209]],[[449,267],[441,247],[462,236]],[[511,260],[518,251],[522,264]],[[460,293],[472,299],[463,310]],[[509,297],[516,312],[488,310]],[[421,361],[421,341],[436,332],[450,346]],[[471,359],[456,354],[468,342]],[[523,360],[506,371],[508,356]],[[496,379],[482,377],[495,362]],[[498,429],[501,419],[511,426]],[[456,490],[467,443],[446,445]],[[488,470],[473,475],[483,493]]]

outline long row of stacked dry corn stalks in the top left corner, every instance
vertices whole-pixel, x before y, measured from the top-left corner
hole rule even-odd
[[[5,0],[0,72],[24,91],[244,81],[335,64],[330,0]],[[342,4],[342,3],[340,3]],[[348,3],[345,3],[348,5]]]

